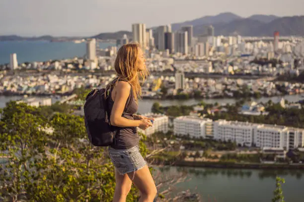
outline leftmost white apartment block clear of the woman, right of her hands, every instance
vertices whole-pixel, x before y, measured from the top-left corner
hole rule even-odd
[[[196,116],[179,116],[174,119],[174,135],[192,138],[206,138],[213,135],[211,119],[203,119]]]

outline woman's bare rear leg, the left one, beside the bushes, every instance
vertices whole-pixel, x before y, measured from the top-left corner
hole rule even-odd
[[[115,169],[115,182],[116,186],[113,202],[126,202],[127,195],[132,187],[132,181],[128,174],[120,175]]]

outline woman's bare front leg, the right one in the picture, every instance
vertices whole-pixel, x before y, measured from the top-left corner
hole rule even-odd
[[[135,173],[128,173],[129,178],[133,179],[133,183],[141,192],[139,202],[153,202],[157,190],[152,175],[147,165]]]

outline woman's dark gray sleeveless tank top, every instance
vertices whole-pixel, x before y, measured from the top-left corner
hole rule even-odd
[[[114,101],[112,100],[112,89],[109,92],[108,106],[109,111],[112,111]],[[133,114],[138,110],[138,104],[136,103],[131,88],[130,95],[125,105],[123,117],[134,120]],[[137,127],[116,127],[113,126],[114,130],[117,130],[115,134],[114,144],[110,147],[116,150],[127,150],[133,148],[139,144],[140,137],[137,133]]]

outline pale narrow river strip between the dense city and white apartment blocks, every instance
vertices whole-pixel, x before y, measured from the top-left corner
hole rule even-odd
[[[7,101],[16,101],[22,99],[22,96],[10,96],[10,97],[5,97],[5,96],[0,96],[0,108],[5,106],[5,103]],[[257,102],[267,102],[269,100],[272,100],[273,102],[278,102],[280,101],[282,97],[281,96],[276,96],[276,97],[271,97],[271,98],[260,98],[260,99],[253,99],[253,101]],[[300,100],[304,100],[302,95],[290,95],[290,96],[284,96],[283,97],[285,100],[290,101],[290,102],[296,102]],[[52,99],[52,102],[56,102],[57,100]],[[151,112],[151,108],[154,102],[159,102],[163,106],[168,106],[168,105],[192,105],[196,104],[200,101],[204,101],[206,103],[235,103],[236,99],[189,99],[189,100],[152,100],[152,99],[145,99],[141,100],[139,102],[139,107],[138,107],[138,112],[141,114]]]

